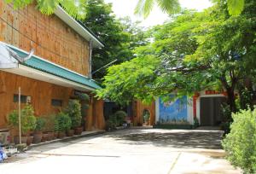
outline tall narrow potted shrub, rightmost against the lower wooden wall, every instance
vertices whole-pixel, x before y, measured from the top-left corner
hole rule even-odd
[[[70,100],[68,102],[65,113],[71,119],[71,128],[72,130],[67,131],[68,136],[73,136],[73,132],[76,135],[80,135],[83,131],[83,127],[81,127],[82,115],[81,115],[81,104],[78,100]],[[73,131],[74,130],[74,131]]]

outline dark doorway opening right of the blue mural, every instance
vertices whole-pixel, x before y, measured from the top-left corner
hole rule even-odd
[[[200,123],[201,125],[219,125],[223,118],[221,104],[226,102],[224,96],[201,97]]]

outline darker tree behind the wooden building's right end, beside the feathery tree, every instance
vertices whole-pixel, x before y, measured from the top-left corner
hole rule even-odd
[[[121,63],[135,57],[132,50],[146,42],[143,40],[143,28],[137,26],[138,23],[133,24],[129,18],[116,19],[110,3],[103,0],[88,0],[87,3],[90,6],[86,8],[83,23],[105,44],[104,48],[93,49],[92,71],[115,59],[118,60],[116,63]],[[100,81],[105,74],[106,70],[102,69],[93,78]]]

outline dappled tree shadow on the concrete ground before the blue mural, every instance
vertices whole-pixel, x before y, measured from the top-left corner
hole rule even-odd
[[[220,149],[222,131],[143,131],[134,130],[126,134],[110,134],[122,143],[148,144],[171,148],[207,148]],[[126,140],[126,141],[124,141]]]

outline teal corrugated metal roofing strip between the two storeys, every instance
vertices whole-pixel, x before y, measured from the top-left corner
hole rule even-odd
[[[15,48],[14,46],[9,45],[9,48],[13,49],[18,55],[20,55],[20,57],[25,57],[28,55],[26,51]],[[93,79],[86,78],[83,75],[79,75],[78,73],[73,73],[72,71],[69,71],[64,67],[57,66],[50,61],[44,61],[44,59],[39,58],[36,55],[32,55],[32,57],[29,60],[25,61],[23,65],[35,68],[44,73],[49,73],[61,78],[65,78],[79,84],[84,84],[85,86],[89,86],[93,89],[101,89],[101,87],[96,84],[96,81],[94,81]]]

